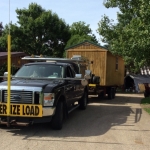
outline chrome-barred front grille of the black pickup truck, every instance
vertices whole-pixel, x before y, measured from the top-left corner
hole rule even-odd
[[[35,96],[35,93],[32,91],[11,91],[10,95],[10,102],[11,103],[23,103],[23,104],[32,104],[34,96],[34,102],[35,102],[35,97],[36,99],[39,98],[39,96]],[[37,101],[37,100],[36,100]],[[2,102],[7,103],[7,90],[3,90],[2,92]]]

